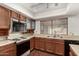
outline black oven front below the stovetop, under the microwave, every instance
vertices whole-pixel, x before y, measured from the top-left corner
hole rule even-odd
[[[30,40],[22,41],[16,44],[17,56],[21,56],[30,49]]]

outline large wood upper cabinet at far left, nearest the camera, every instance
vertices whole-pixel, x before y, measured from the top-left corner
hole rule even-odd
[[[0,6],[0,29],[9,28],[10,25],[10,11]]]

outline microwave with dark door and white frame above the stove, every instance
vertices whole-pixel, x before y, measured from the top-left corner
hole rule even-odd
[[[17,19],[11,18],[11,25],[10,25],[10,33],[11,32],[25,32],[26,31],[26,22],[18,21]]]

